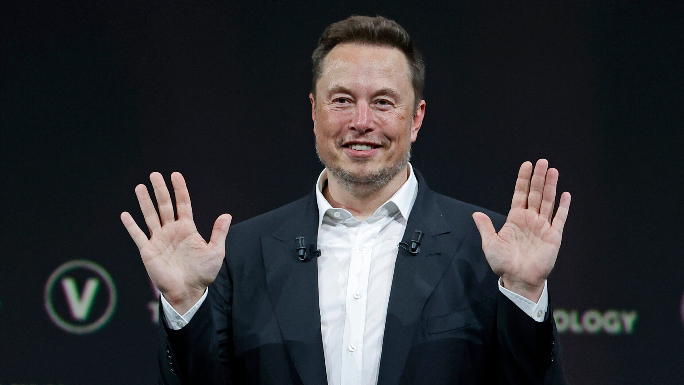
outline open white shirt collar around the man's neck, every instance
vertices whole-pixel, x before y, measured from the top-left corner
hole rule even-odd
[[[343,208],[333,208],[332,205],[330,205],[330,202],[328,202],[328,199],[323,196],[323,188],[326,185],[326,182],[328,181],[328,169],[323,169],[321,171],[321,174],[318,176],[318,180],[316,182],[316,203],[318,204],[318,228],[321,228],[321,223],[323,223],[324,216],[326,216],[326,212],[328,210],[341,210],[343,212],[346,212],[349,214],[349,216],[352,216],[350,212]],[[408,215],[411,212],[411,209],[413,208],[413,203],[416,201],[416,197],[418,195],[418,179],[416,179],[416,175],[413,172],[413,166],[411,166],[410,162],[408,163],[408,180],[402,184],[401,187],[399,187],[399,190],[392,195],[390,199],[388,199],[385,203],[382,204],[376,210],[375,214],[373,216],[378,215],[381,210],[387,210],[388,214],[392,215],[395,214],[395,212],[399,212],[404,219],[408,220]],[[353,217],[353,216],[352,216]]]

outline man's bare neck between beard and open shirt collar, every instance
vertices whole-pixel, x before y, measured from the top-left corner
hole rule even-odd
[[[323,189],[323,196],[330,206],[343,208],[352,213],[354,218],[363,221],[375,214],[376,210],[402,187],[408,180],[408,171],[408,166],[406,166],[382,188],[369,193],[363,192],[361,188],[347,189],[345,184],[328,172],[328,186]]]

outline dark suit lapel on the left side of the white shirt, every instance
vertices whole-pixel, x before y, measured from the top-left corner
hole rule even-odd
[[[316,258],[299,260],[295,238],[317,243],[318,207],[315,195],[273,236],[262,236],[268,294],[294,366],[304,384],[325,384],[326,364],[321,338]]]

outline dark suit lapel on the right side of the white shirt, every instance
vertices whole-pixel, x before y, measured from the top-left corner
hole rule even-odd
[[[415,169],[414,169],[415,171]],[[445,236],[451,228],[443,218],[425,179],[416,171],[418,195],[402,242],[410,245],[415,230],[424,232],[421,250],[411,256],[399,247],[389,296],[378,385],[397,384],[404,371],[425,301],[453,259],[462,236]]]

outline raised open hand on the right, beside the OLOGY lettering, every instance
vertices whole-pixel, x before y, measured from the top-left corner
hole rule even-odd
[[[563,192],[553,216],[558,171],[546,159],[525,162],[518,171],[508,218],[499,233],[483,212],[473,213],[482,250],[503,286],[537,302],[556,257],[568,218],[570,193]]]

